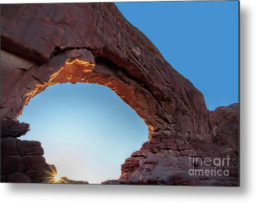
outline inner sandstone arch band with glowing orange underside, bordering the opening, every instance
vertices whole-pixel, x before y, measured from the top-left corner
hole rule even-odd
[[[12,56],[11,60],[16,58],[15,55],[2,51],[3,66],[5,66],[5,61],[9,59],[8,55]],[[65,82],[86,82],[101,84],[112,89],[141,116],[151,131],[159,127],[167,127],[167,123],[173,123],[172,118],[163,110],[157,100],[152,98],[151,93],[144,89],[140,83],[132,80],[125,70],[102,57],[97,57],[96,61],[97,63],[91,52],[86,49],[74,49],[51,57],[47,64],[35,65],[29,70],[23,71],[21,77],[16,81],[20,81],[21,84],[19,96],[22,99],[19,103],[12,103],[12,100],[16,99],[16,96],[13,95],[17,89],[16,87],[12,88],[8,83],[10,78],[15,78],[16,70],[14,69],[7,78],[3,79],[3,92],[7,94],[3,94],[4,98],[2,99],[2,104],[7,106],[2,110],[3,116],[17,119],[22,113],[24,105],[50,85]],[[19,68],[22,68],[25,63],[24,60],[16,60],[16,62],[16,66]],[[27,60],[26,62],[32,64]],[[164,112],[163,115],[159,113],[157,117],[155,113],[161,111]],[[159,119],[160,116],[161,118],[169,118],[167,123]]]

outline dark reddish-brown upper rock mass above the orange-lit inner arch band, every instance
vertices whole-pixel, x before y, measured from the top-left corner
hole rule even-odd
[[[144,105],[131,107],[151,130],[173,128],[172,124],[176,124],[184,132],[208,133],[208,110],[203,95],[165,61],[152,42],[126,21],[114,4],[3,5],[1,9],[2,49],[41,65],[40,71],[52,68],[49,63],[63,57],[64,52],[86,49],[91,57],[105,57],[117,69],[126,71],[132,85],[137,83],[134,88],[138,90],[133,91],[132,97],[140,95],[140,91],[147,95],[151,112],[139,110]],[[10,99],[8,96],[3,102]],[[130,98],[124,99],[131,104]],[[142,96],[137,97],[137,103],[141,99]],[[14,118],[20,109],[22,105],[2,115]]]

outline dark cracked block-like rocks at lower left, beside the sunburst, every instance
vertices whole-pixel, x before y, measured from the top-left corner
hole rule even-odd
[[[46,167],[38,141],[1,139],[1,182],[39,182]]]

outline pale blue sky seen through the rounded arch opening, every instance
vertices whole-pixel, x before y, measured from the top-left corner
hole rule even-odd
[[[89,183],[118,179],[120,165],[147,140],[147,126],[105,86],[52,85],[19,116],[31,130],[21,139],[42,143],[59,176]]]

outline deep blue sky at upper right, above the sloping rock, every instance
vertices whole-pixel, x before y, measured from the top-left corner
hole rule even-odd
[[[209,110],[238,102],[238,1],[116,3]]]

